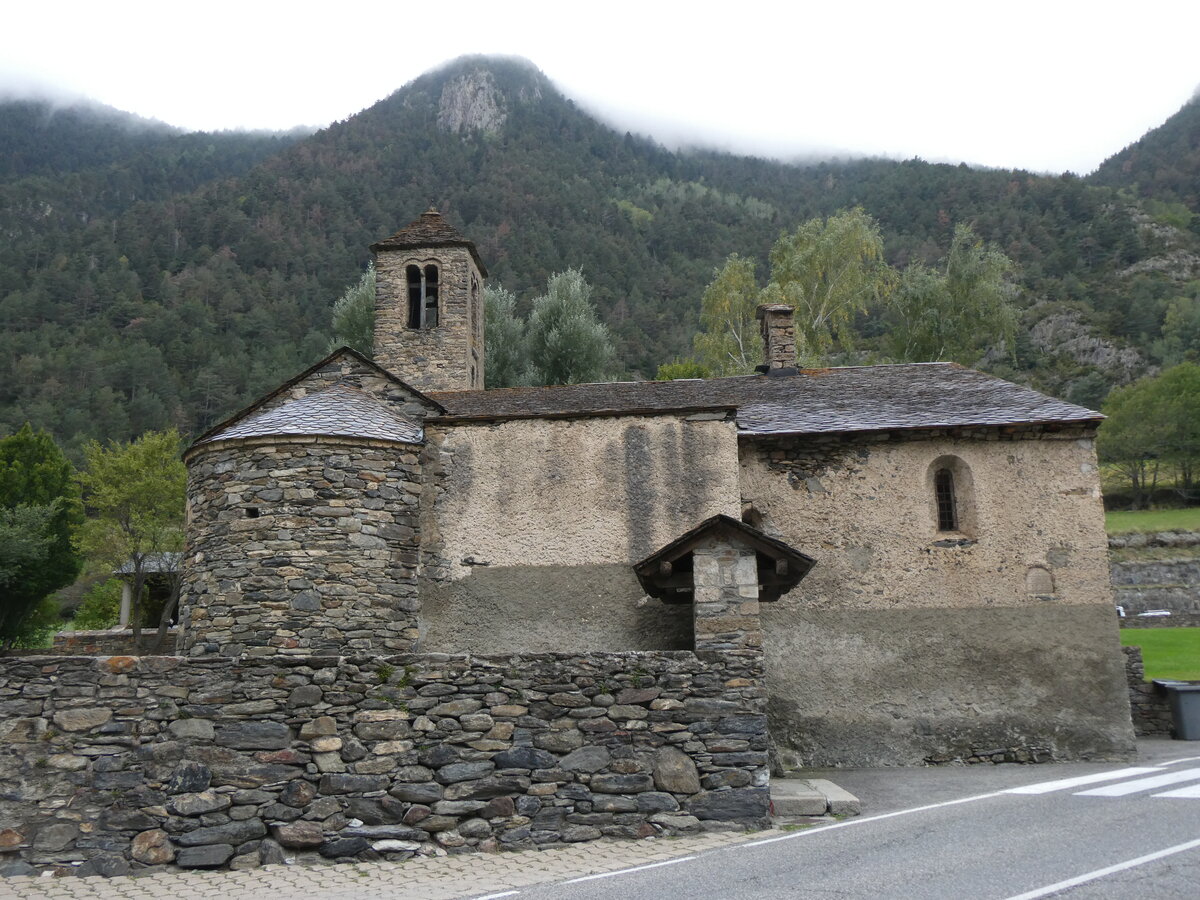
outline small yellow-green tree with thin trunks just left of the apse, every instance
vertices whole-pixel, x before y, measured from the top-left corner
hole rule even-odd
[[[88,464],[79,473],[89,518],[80,545],[95,566],[109,571],[128,565],[132,582],[130,622],[134,644],[142,638],[142,589],[155,559],[184,548],[187,472],[180,460],[179,432],[146,432],[132,443],[84,448]],[[178,576],[158,623],[161,644],[179,601]]]

